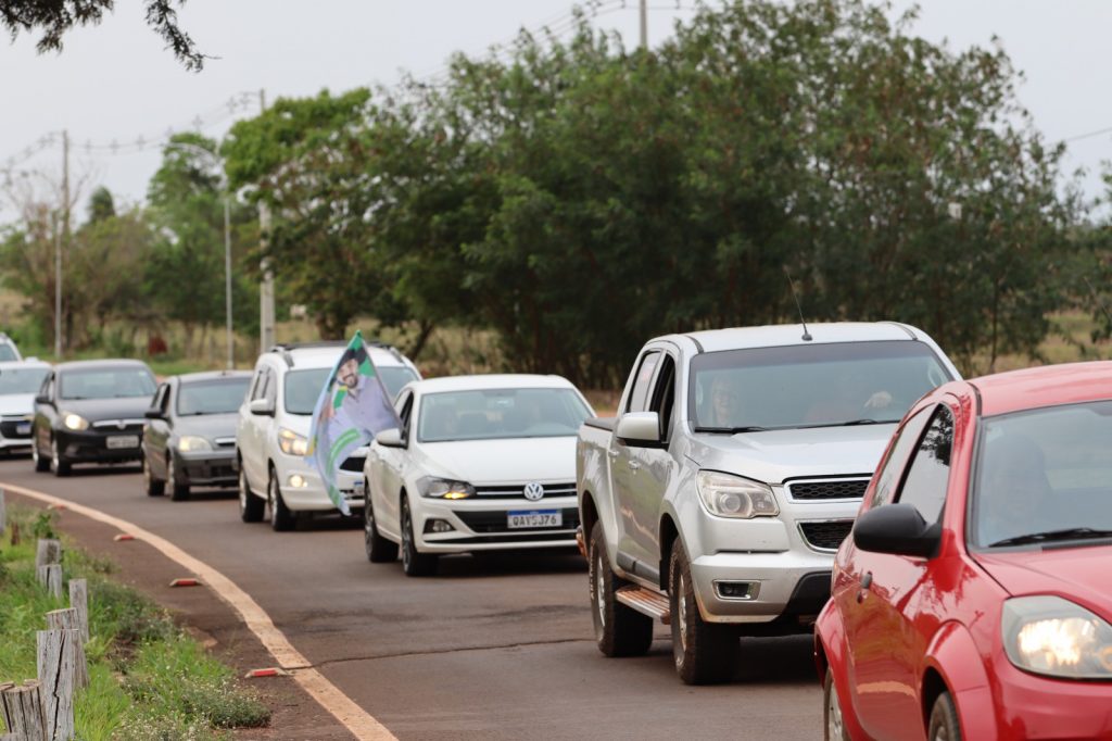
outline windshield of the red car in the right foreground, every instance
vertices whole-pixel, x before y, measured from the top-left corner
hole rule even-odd
[[[989,417],[980,435],[967,528],[974,545],[1112,531],[1112,402]]]

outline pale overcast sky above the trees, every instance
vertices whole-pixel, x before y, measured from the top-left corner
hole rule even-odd
[[[637,0],[603,1],[599,27],[637,40]],[[692,0],[649,0],[649,41],[671,34],[692,14]],[[679,6],[676,10],[675,6]],[[713,4],[713,3],[712,3]],[[897,0],[893,14],[911,7]],[[1105,37],[1112,28],[1109,0],[926,0],[915,32],[952,48],[987,46],[1000,37],[1025,73],[1021,101],[1051,140],[1112,129],[1112,65]],[[0,41],[0,169],[10,157],[17,170],[60,171],[57,146],[24,157],[51,131],[67,129],[72,169],[90,184],[106,185],[118,199],[141,200],[158,165],[157,147],[169,129],[205,122],[219,137],[236,117],[257,110],[258,91],[268,98],[342,91],[391,83],[399,70],[418,76],[441,71],[453,51],[479,52],[513,38],[520,28],[557,28],[569,18],[568,0],[188,0],[182,27],[211,59],[200,73],[187,72],[143,23],[140,0],[117,0],[99,27],[66,37],[61,55],[40,56],[34,37]],[[229,107],[236,99],[237,107]],[[117,154],[86,145],[113,140],[120,151],[142,137],[148,149]],[[132,146],[127,146],[132,145]],[[1102,160],[1112,159],[1112,134],[1070,145],[1071,168],[1085,167],[1089,196],[1102,191]],[[0,172],[0,179],[2,179]],[[86,187],[88,196],[89,187]],[[11,211],[0,209],[0,221]]]

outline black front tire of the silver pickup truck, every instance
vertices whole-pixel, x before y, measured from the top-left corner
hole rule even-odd
[[[672,606],[672,655],[676,673],[686,684],[714,684],[731,680],[741,658],[737,631],[704,622],[695,601],[691,563],[677,537],[668,566]]]

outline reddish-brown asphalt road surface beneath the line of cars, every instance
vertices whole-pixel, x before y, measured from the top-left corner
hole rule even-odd
[[[275,533],[268,523],[240,522],[231,492],[187,502],[148,497],[138,467],[76,467],[56,478],[13,460],[0,462],[0,482],[129,520],[221,571],[399,739],[822,735],[808,636],[744,640],[737,679],[717,686],[686,686],[676,678],[663,625],[647,656],[606,659],[592,638],[578,555],[456,556],[441,559],[435,577],[407,579],[400,563],[367,562],[355,523],[320,517]],[[165,584],[173,572],[152,549],[112,543],[110,528],[78,517],[63,513],[62,528],[120,562],[140,585]],[[159,575],[142,579],[143,569]],[[241,661],[266,660],[203,589],[153,591],[216,635],[211,643],[235,643]],[[281,708],[270,738],[350,738],[294,689],[271,701]]]

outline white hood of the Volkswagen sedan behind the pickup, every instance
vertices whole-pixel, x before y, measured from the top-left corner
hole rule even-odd
[[[473,484],[575,481],[575,437],[421,443],[424,467],[430,475]]]

